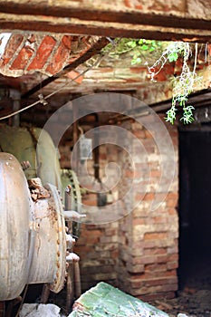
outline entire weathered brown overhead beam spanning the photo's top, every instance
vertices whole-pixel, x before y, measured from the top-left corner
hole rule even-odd
[[[193,42],[211,38],[209,0],[3,0],[0,13],[4,30],[159,40],[184,37]]]

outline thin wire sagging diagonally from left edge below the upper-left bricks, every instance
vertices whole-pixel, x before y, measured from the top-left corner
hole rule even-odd
[[[80,74],[78,74],[76,77],[74,77],[71,81],[69,81],[68,83],[64,83],[59,89],[57,89],[56,91],[53,91],[52,93],[48,94],[46,97],[43,98],[43,100],[49,99],[51,98],[54,94],[56,94],[59,91],[62,91],[62,89],[64,87],[66,87],[67,85],[69,85],[71,82],[76,81],[79,77],[81,77],[84,73],[90,71],[93,67],[95,67],[96,65],[99,65],[99,63],[101,62],[102,59],[104,59],[105,57],[107,57],[110,53],[110,51],[120,42],[120,40],[117,43],[113,43],[112,47],[110,48],[110,50],[105,54],[105,55],[100,55],[99,58],[93,63],[93,65],[91,65],[90,67],[88,67],[86,70],[84,70],[83,72],[81,72]],[[16,114],[23,112],[24,110],[27,110],[29,108],[34,107],[35,105],[37,105],[38,103],[41,103],[41,100],[39,101],[35,101],[34,103],[20,109],[20,110],[16,110],[13,113],[10,113],[4,117],[1,117],[0,120],[5,120],[8,118],[11,118],[13,116],[15,116]]]

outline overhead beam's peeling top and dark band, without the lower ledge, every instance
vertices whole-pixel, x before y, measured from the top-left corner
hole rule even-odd
[[[166,0],[149,0],[148,5],[134,5],[134,1],[108,3],[95,1],[48,0],[3,0],[0,12],[5,14],[45,15],[77,18],[86,21],[112,22],[120,24],[146,24],[183,29],[210,30],[211,5],[209,0],[180,0],[167,5]],[[193,5],[195,7],[193,7]],[[200,8],[200,10],[197,9]],[[204,10],[203,10],[204,9]]]

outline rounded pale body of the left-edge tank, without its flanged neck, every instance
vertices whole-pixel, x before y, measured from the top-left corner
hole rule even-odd
[[[8,153],[0,159],[0,299],[13,299],[24,289],[29,255],[33,201],[19,162]]]

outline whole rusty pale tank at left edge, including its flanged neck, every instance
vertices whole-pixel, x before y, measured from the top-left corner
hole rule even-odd
[[[0,301],[14,299],[27,283],[63,286],[66,236],[58,190],[35,200],[12,154],[0,153]]]

